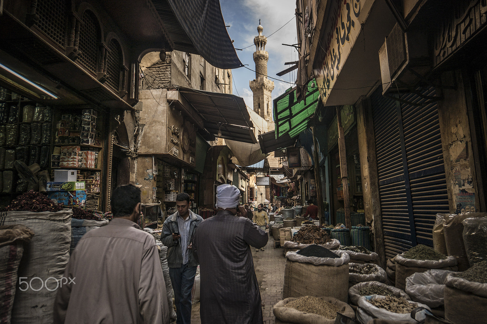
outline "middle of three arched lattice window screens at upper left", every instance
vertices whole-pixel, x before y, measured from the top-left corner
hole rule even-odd
[[[79,61],[88,70],[95,73],[97,72],[98,62],[98,23],[93,14],[88,11],[83,13],[81,18],[81,28],[79,30]]]

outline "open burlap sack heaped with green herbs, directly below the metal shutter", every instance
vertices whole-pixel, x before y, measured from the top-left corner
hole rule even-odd
[[[426,245],[416,245],[408,252],[397,254],[395,286],[406,288],[406,278],[416,272],[425,272],[430,269],[457,270],[457,260],[454,256],[446,256],[434,251]]]

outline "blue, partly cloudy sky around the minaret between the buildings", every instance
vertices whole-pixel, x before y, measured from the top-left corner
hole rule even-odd
[[[284,46],[284,44],[296,44],[296,0],[220,0],[223,18],[227,27],[230,39],[233,39],[233,46],[238,49],[250,46],[243,51],[237,51],[242,64],[248,64],[248,68],[255,70],[253,53],[255,52],[254,37],[259,35],[257,26],[259,19],[263,27],[263,35],[269,36],[286,22],[274,35],[267,38],[265,50],[269,53],[267,62],[267,75],[282,81],[274,81],[272,99],[281,95],[286,89],[293,87],[296,80],[297,70],[277,76],[276,73],[290,67],[284,62],[297,61],[298,52],[294,47]],[[239,68],[232,70],[233,74],[233,94],[244,98],[245,104],[253,106],[253,95],[249,88],[249,81],[255,78],[255,72]]]

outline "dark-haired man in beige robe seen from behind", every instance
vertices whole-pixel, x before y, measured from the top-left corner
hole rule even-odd
[[[57,291],[54,323],[169,324],[169,306],[154,237],[136,224],[140,189],[112,194],[113,220],[86,233]]]

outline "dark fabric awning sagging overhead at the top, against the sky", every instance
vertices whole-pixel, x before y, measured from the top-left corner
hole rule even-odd
[[[174,50],[198,54],[220,69],[242,67],[219,0],[152,0]]]

